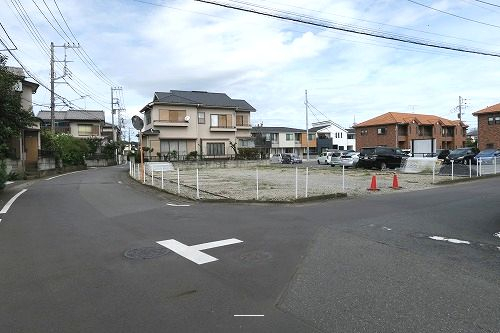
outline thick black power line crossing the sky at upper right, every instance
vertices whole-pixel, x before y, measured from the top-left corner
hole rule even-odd
[[[224,8],[234,9],[234,10],[238,10],[238,11],[243,11],[243,12],[247,12],[247,13],[253,13],[253,14],[258,14],[258,15],[262,15],[262,16],[272,17],[272,18],[276,18],[276,19],[280,19],[280,20],[291,21],[291,22],[296,22],[296,23],[301,23],[301,24],[307,24],[307,25],[312,25],[312,26],[317,26],[317,27],[322,27],[322,28],[328,28],[328,29],[332,29],[332,30],[345,31],[345,32],[349,32],[349,33],[365,35],[365,36],[370,36],[370,37],[375,37],[375,38],[393,40],[393,41],[397,41],[397,42],[433,47],[433,48],[450,50],[450,51],[485,55],[485,56],[491,56],[491,57],[500,57],[500,53],[494,53],[494,52],[484,51],[484,50],[479,50],[479,49],[472,49],[472,48],[467,48],[464,46],[456,46],[456,45],[451,45],[451,44],[444,44],[444,43],[440,44],[440,43],[435,42],[435,41],[420,40],[420,39],[415,39],[415,38],[410,37],[410,36],[396,35],[396,34],[389,34],[389,33],[380,33],[380,32],[376,32],[376,31],[370,31],[369,29],[354,27],[354,26],[346,26],[346,25],[332,24],[332,23],[321,23],[318,20],[303,20],[303,19],[299,19],[296,17],[284,16],[284,15],[280,15],[277,13],[262,12],[262,11],[258,11],[256,9],[252,9],[252,8],[238,7],[238,6],[230,5],[227,3],[218,3],[215,1],[209,1],[209,0],[194,0],[194,1],[202,2],[202,3],[206,3],[206,4],[211,4],[211,5],[215,5],[215,6],[220,6],[220,7],[224,7]]]

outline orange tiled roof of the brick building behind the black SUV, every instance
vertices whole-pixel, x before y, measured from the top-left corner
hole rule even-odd
[[[434,125],[436,123],[441,123],[445,126],[455,126],[457,124],[461,124],[460,120],[449,120],[435,115],[387,112],[378,117],[356,124],[354,127],[368,127],[388,124],[409,124],[413,121],[421,125]]]

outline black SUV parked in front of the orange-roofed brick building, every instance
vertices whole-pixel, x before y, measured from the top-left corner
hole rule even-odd
[[[384,170],[387,168],[399,168],[401,162],[406,160],[406,155],[400,148],[393,147],[366,147],[361,148],[358,168],[378,168]]]

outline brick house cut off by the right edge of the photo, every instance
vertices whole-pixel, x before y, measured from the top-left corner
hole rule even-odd
[[[500,103],[473,115],[477,117],[477,148],[500,148]]]

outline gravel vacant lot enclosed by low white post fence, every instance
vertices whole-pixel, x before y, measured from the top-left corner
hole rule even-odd
[[[306,169],[307,168],[307,169]],[[436,171],[437,172],[437,171]],[[401,189],[391,188],[394,175],[397,175]],[[379,191],[368,191],[372,177],[376,176]],[[448,175],[405,174],[399,171],[377,171],[364,169],[345,169],[304,163],[290,165],[251,165],[238,167],[198,168],[198,192],[196,191],[196,169],[183,169],[179,166],[179,186],[177,170],[163,172],[163,189],[171,193],[196,199],[234,199],[293,201],[295,198],[335,195],[346,193],[348,196],[379,195],[394,191],[415,191],[436,186],[439,182],[450,180]],[[257,181],[258,180],[258,181]],[[151,174],[146,177],[151,185]],[[257,185],[258,184],[258,185]],[[153,185],[162,187],[161,172],[154,173]],[[257,197],[258,196],[258,197]]]

